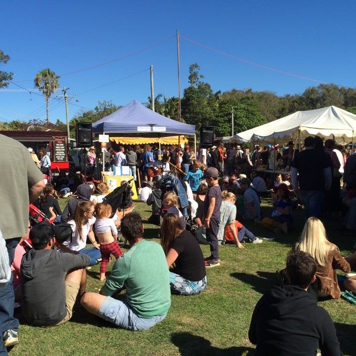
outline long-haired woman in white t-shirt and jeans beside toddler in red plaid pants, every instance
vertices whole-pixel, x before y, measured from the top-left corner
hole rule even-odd
[[[101,262],[100,245],[95,241],[92,225],[95,223],[94,204],[90,201],[83,201],[77,204],[71,220],[67,223],[72,225],[72,237],[63,242],[66,249],[64,252],[86,254],[91,258],[90,266]],[[87,237],[94,247],[88,247]]]

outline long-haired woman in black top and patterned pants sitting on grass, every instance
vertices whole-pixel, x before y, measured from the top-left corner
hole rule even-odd
[[[207,285],[204,257],[198,241],[183,230],[176,214],[166,214],[161,225],[161,244],[170,267],[171,293],[194,295]]]

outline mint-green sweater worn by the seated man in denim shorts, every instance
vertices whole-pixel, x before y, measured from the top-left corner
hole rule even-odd
[[[104,296],[126,287],[126,297],[136,315],[151,318],[166,314],[171,306],[169,269],[161,245],[141,240],[119,257],[101,289]]]

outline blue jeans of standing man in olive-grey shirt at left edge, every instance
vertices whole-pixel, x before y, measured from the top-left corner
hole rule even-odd
[[[6,240],[6,248],[9,255],[10,265],[13,262],[15,255],[15,248],[18,244],[19,238]],[[14,303],[15,303],[15,294],[11,280],[5,284],[3,288],[0,289],[0,325],[1,325],[1,337],[2,333],[10,329],[18,329],[19,321],[13,317]],[[2,344],[2,339],[0,339]],[[2,347],[2,346],[1,346]],[[7,355],[7,352],[3,353],[0,347],[0,353]]]

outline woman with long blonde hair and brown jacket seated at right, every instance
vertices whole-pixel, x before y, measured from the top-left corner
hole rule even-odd
[[[307,220],[295,249],[308,252],[314,258],[319,297],[340,298],[336,269],[348,273],[350,264],[340,255],[339,248],[328,241],[325,227],[319,219],[311,217]]]

